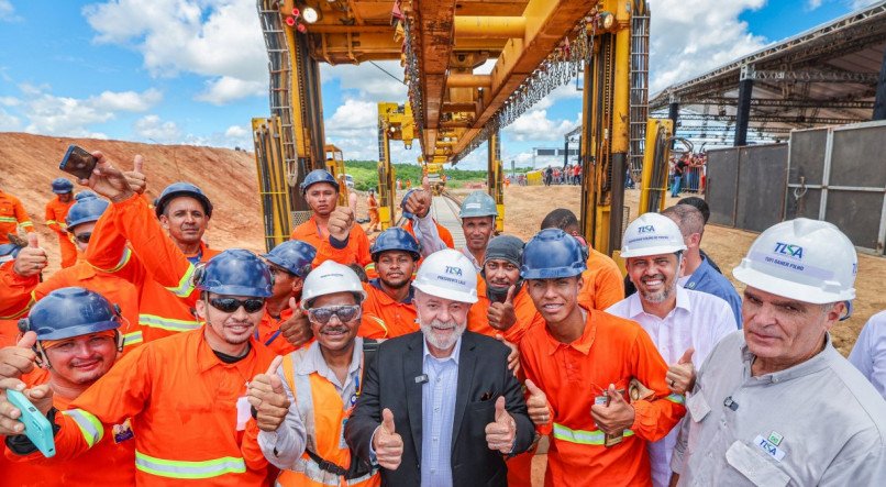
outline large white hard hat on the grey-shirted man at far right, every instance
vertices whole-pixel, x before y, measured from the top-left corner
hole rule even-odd
[[[855,246],[840,229],[798,218],[761,233],[732,275],[765,292],[824,305],[855,298],[857,268]]]

